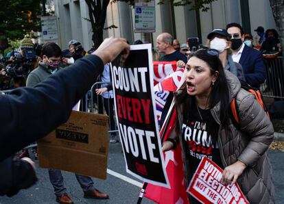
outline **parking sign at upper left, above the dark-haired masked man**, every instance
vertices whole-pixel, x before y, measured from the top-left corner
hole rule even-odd
[[[43,42],[58,41],[57,16],[41,16],[41,30]]]

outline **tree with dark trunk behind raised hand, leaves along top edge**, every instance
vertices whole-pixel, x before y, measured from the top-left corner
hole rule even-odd
[[[91,27],[93,30],[92,40],[94,42],[95,48],[99,47],[99,44],[103,41],[103,31],[104,29],[108,28],[115,28],[115,25],[111,25],[110,27],[104,28],[104,23],[106,21],[106,8],[108,7],[108,3],[110,0],[85,0],[86,4],[88,5],[88,14],[90,19],[86,19],[91,22]],[[134,0],[113,0],[112,2],[115,3],[117,1],[124,1],[129,5],[134,6]],[[164,3],[164,1],[171,1],[173,5],[182,6],[182,5],[191,5],[191,9],[207,11],[205,5],[207,3],[211,3],[217,0],[161,0],[158,4]]]

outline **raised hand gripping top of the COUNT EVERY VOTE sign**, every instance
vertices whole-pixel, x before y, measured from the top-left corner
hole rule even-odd
[[[120,53],[122,53],[121,62],[125,62],[129,52],[130,46],[126,42],[126,39],[111,37],[106,38],[99,48],[92,53],[92,55],[97,55],[102,59],[104,64],[106,64],[115,60]]]

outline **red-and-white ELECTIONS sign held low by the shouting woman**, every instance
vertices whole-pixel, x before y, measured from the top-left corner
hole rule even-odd
[[[207,157],[203,157],[191,179],[189,192],[201,203],[249,203],[237,183],[220,183],[222,168]]]

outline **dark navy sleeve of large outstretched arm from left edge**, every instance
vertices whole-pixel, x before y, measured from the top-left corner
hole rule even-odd
[[[1,95],[0,162],[66,122],[103,67],[99,57],[86,55],[34,88]]]

